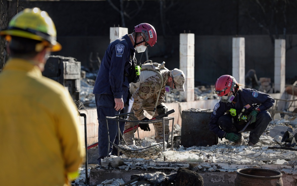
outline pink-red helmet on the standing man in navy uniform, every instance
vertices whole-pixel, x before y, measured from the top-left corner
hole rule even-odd
[[[135,26],[135,32],[142,32],[146,38],[146,42],[152,47],[157,42],[157,33],[153,26],[149,23],[141,23]]]

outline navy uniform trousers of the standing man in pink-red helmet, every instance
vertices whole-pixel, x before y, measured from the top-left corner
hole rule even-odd
[[[109,94],[95,94],[95,101],[97,106],[97,118],[98,118],[98,152],[99,158],[98,163],[101,163],[101,160],[108,155],[117,155],[118,151],[116,147],[113,147],[110,142],[114,144],[119,144],[119,130],[117,121],[108,119],[108,128],[106,123],[106,116],[114,117],[116,114],[124,113],[124,109],[120,112],[116,111],[114,98]],[[119,122],[120,132],[124,132],[125,122]],[[109,134],[109,141],[108,141]],[[108,146],[109,144],[109,146]]]

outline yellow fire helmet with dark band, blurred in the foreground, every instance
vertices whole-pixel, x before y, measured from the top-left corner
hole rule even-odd
[[[52,52],[60,51],[62,46],[56,40],[57,31],[47,12],[35,7],[26,8],[15,15],[8,24],[7,30],[0,31],[1,36],[25,37],[38,41],[47,41]],[[9,37],[6,37],[9,40]],[[46,42],[46,43],[47,43]]]

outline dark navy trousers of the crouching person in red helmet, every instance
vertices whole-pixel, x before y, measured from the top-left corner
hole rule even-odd
[[[218,120],[218,124],[223,131],[226,133],[235,133],[241,138],[241,131],[247,122],[237,122],[236,117],[234,118],[234,123],[232,124],[232,117],[230,114],[225,114],[221,116]],[[244,130],[244,132],[250,131],[249,141],[256,144],[260,141],[260,136],[266,130],[269,122],[271,122],[271,115],[267,111],[260,111],[257,115],[257,119],[254,123],[249,124],[249,126]]]

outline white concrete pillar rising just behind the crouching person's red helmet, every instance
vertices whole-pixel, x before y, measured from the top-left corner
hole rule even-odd
[[[244,37],[233,37],[232,39],[232,76],[237,83],[245,84]]]

